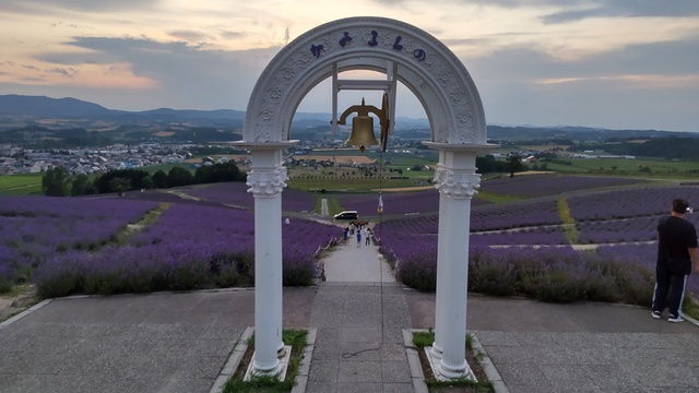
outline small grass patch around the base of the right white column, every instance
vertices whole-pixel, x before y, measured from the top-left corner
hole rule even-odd
[[[466,333],[466,362],[471,368],[471,371],[475,376],[477,381],[469,379],[458,379],[451,381],[438,381],[433,374],[431,367],[427,355],[425,355],[425,347],[431,346],[435,342],[435,331],[429,329],[428,331],[413,332],[413,345],[418,349],[419,361],[423,367],[423,374],[425,376],[425,384],[427,389],[433,392],[459,392],[459,393],[493,393],[493,383],[488,380],[481,360],[484,354],[473,349],[473,336]]]

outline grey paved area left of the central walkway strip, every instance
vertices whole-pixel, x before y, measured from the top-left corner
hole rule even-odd
[[[285,325],[315,293],[284,290]],[[251,289],[54,299],[0,327],[0,392],[210,392],[253,321]]]

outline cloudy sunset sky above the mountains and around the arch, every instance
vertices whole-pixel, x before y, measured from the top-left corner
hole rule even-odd
[[[697,0],[2,0],[0,94],[245,110],[280,48],[360,15],[445,43],[490,124],[699,132]],[[299,110],[330,97],[319,86]],[[396,111],[424,117],[406,90]]]

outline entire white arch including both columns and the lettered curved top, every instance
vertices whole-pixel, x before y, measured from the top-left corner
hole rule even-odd
[[[389,64],[396,64],[388,70]],[[440,193],[435,343],[445,378],[471,376],[465,361],[466,283],[471,198],[479,186],[476,153],[487,144],[483,104],[461,61],[442,43],[406,23],[348,17],[294,39],[258,80],[246,110],[242,141],[250,150],[249,192],[254,196],[256,373],[280,371],[282,342],[283,151],[296,108],[335,72],[372,70],[393,74],[422,103],[439,151],[435,188]],[[336,94],[336,92],[333,92]],[[465,249],[464,249],[465,246]],[[406,326],[410,327],[410,326]]]

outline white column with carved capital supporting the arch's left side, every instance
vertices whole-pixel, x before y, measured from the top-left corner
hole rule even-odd
[[[287,146],[248,146],[252,166],[247,184],[254,196],[254,374],[275,376],[281,371],[282,190],[288,179],[282,154]]]

